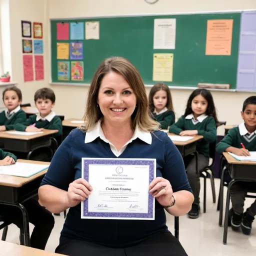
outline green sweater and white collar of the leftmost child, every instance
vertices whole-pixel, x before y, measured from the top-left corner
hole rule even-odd
[[[24,122],[26,120],[26,113],[20,108],[16,107],[9,114],[6,110],[0,112],[0,125],[4,125],[6,130],[14,129],[14,124]]]

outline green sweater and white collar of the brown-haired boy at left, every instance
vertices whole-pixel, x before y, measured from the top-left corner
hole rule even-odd
[[[54,112],[49,113],[47,116],[42,118],[39,114],[30,115],[26,121],[17,123],[14,125],[15,130],[24,131],[25,128],[35,123],[36,128],[44,128],[50,130],[58,130],[53,136],[57,137],[62,134],[62,123],[58,116]]]

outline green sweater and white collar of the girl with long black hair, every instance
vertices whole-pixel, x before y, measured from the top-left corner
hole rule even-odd
[[[197,142],[196,150],[199,154],[209,157],[209,143],[213,143],[217,137],[214,118],[201,114],[194,120],[193,114],[182,115],[170,126],[169,132],[179,134],[182,130],[197,130],[198,135],[202,135],[203,139]]]

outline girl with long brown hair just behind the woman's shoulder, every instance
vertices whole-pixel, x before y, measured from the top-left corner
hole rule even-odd
[[[161,129],[167,129],[175,122],[171,94],[164,83],[156,83],[149,92],[149,109]]]

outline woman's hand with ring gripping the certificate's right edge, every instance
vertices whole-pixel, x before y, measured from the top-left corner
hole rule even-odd
[[[172,200],[172,187],[169,180],[156,177],[149,184],[149,193],[162,205],[167,206]]]

